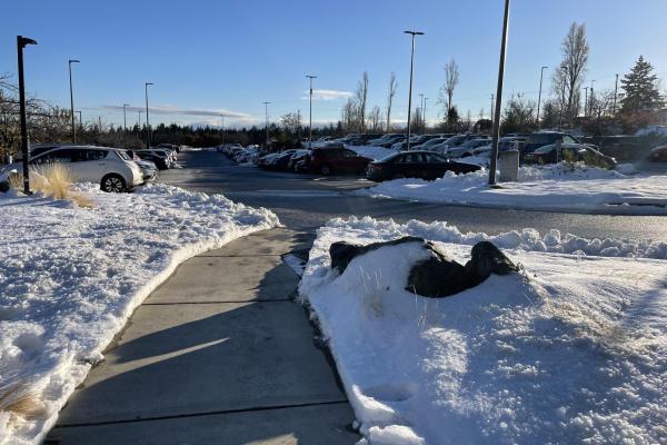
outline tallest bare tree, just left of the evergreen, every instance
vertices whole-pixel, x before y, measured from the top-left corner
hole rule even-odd
[[[560,70],[556,70],[555,77],[558,77],[558,80],[563,82],[559,88],[567,98],[565,109],[567,119],[571,123],[573,119],[579,113],[580,90],[590,51],[586,39],[586,24],[577,24],[577,22],[570,24],[569,31],[563,40],[561,50],[563,61],[560,62]]]

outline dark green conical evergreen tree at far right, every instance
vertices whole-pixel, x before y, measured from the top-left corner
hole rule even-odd
[[[644,60],[644,56],[639,56],[635,67],[620,80],[620,83],[625,91],[620,100],[621,113],[656,111],[665,106],[665,100],[658,90],[658,77],[654,72],[654,67]]]

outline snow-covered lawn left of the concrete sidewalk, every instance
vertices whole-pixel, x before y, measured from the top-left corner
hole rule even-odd
[[[132,310],[179,263],[279,224],[221,195],[78,188],[92,208],[0,194],[0,444],[43,438]]]

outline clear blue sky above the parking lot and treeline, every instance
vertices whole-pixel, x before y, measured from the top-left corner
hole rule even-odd
[[[16,36],[36,39],[26,50],[32,95],[69,107],[68,59],[73,67],[76,108],[83,119],[122,123],[129,103],[143,107],[149,87],[151,123],[263,123],[262,101],[277,120],[308,112],[305,75],[316,89],[340,91],[313,102],[313,121],[336,120],[345,92],[368,71],[369,105],[386,105],[389,75],[398,77],[394,118],[407,116],[409,37],[418,38],[416,95],[428,98],[436,119],[442,66],[455,58],[460,83],[455,105],[488,115],[495,92],[502,0],[464,1],[11,1],[3,4],[0,72],[16,72]],[[614,87],[641,53],[667,78],[665,0],[514,0],[505,97],[537,98],[539,67],[560,60],[560,41],[573,21],[585,22],[590,43],[587,79]],[[549,76],[545,90],[549,91]],[[141,117],[143,120],[143,117]],[[128,123],[137,112],[128,113]]]

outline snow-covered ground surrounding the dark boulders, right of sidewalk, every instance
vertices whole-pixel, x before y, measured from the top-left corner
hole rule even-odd
[[[342,275],[330,268],[335,241],[407,235],[459,263],[490,239],[524,273],[429,299],[405,290],[425,255],[417,244],[368,253]],[[581,251],[619,254],[603,245],[635,257]],[[336,219],[318,231],[300,295],[329,342],[362,443],[667,443],[665,258],[666,243]]]

